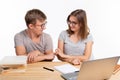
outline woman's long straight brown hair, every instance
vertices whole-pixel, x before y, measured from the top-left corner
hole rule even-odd
[[[79,30],[78,35],[81,37],[81,39],[86,39],[87,35],[89,34],[90,30],[87,26],[87,17],[86,17],[86,12],[82,9],[77,9],[73,12],[70,13],[70,15],[67,18],[67,22],[69,21],[69,18],[71,16],[74,16],[77,18],[79,24],[81,24],[81,28]],[[68,25],[69,26],[69,25]],[[72,34],[74,34],[74,32],[70,29],[67,29],[68,34],[71,36]]]

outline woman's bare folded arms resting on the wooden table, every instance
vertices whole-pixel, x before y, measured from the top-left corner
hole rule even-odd
[[[64,42],[58,41],[58,49],[56,49],[56,54],[58,59],[72,64],[79,64],[81,61],[86,61],[90,58],[92,52],[92,41],[86,43],[85,52],[83,56],[65,55],[64,54]]]

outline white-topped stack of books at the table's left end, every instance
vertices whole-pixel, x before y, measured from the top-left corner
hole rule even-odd
[[[25,72],[27,56],[5,56],[0,61],[3,72]]]

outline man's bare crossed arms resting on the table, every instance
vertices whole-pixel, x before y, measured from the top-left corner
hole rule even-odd
[[[27,53],[24,46],[16,46],[15,50],[16,50],[17,56],[20,56],[20,55],[28,56],[28,59],[27,59],[28,63],[38,62],[43,60],[52,60],[54,58],[52,50],[47,51],[46,54],[41,53],[38,50],[34,50]]]

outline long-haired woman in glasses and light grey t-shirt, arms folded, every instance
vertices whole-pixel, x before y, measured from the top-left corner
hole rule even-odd
[[[77,9],[67,18],[68,29],[59,35],[58,59],[79,65],[80,62],[92,59],[93,37],[90,34],[86,12]]]

